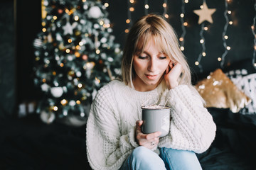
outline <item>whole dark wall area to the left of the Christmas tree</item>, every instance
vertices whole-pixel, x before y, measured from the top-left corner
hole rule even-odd
[[[0,1],[0,118],[40,98],[33,86],[33,40],[41,30],[41,0]]]

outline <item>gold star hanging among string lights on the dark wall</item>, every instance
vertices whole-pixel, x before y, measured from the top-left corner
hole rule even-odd
[[[208,8],[206,2],[203,2],[203,8],[194,10],[194,13],[199,16],[198,24],[203,23],[203,21],[213,23],[213,18],[211,17],[211,15],[213,15],[215,11],[215,8]]]

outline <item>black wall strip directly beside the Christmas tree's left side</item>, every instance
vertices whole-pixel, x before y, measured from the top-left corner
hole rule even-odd
[[[33,40],[41,31],[41,0],[17,0],[17,101],[40,98],[33,85]]]

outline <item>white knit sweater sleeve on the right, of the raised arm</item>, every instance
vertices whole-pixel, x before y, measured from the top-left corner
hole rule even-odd
[[[193,88],[193,87],[191,87]],[[186,85],[169,90],[170,132],[161,137],[159,147],[205,152],[215,138],[216,125],[196,92]]]

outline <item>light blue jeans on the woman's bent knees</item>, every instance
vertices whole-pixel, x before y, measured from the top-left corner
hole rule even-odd
[[[119,170],[202,169],[194,152],[166,147],[161,147],[159,150],[160,154],[158,155],[146,147],[137,147]]]

